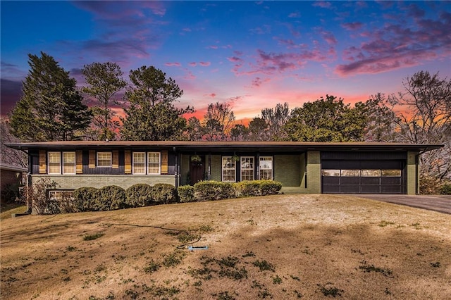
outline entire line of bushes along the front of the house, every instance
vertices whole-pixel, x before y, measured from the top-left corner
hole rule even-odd
[[[237,196],[264,196],[277,194],[282,185],[273,180],[252,180],[237,183],[202,181],[194,186],[184,185],[175,189],[173,185],[156,184],[154,186],[137,184],[123,189],[109,185],[97,189],[80,187],[72,196],[51,200],[45,192],[54,189],[51,182],[36,182],[32,189],[25,191],[33,201],[38,214],[75,213],[82,211],[112,211],[121,208],[171,204],[177,201],[210,201],[235,198]],[[25,195],[24,195],[25,196]],[[23,199],[25,201],[25,198]]]

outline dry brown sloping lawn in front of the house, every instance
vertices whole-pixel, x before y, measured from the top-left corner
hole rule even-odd
[[[31,215],[0,246],[1,299],[451,299],[451,215],[354,196]]]

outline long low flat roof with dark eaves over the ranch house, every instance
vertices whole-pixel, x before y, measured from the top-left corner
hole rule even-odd
[[[190,142],[190,141],[58,141],[6,143],[18,150],[33,149],[172,149],[173,151],[430,151],[442,144],[382,142]]]

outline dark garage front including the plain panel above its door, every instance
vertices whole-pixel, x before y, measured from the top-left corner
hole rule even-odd
[[[323,152],[325,194],[406,194],[407,152]]]

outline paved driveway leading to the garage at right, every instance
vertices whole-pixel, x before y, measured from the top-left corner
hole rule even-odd
[[[354,195],[361,198],[373,199],[378,201],[390,202],[412,206],[416,208],[424,208],[429,211],[438,211],[440,213],[451,214],[451,195]]]

